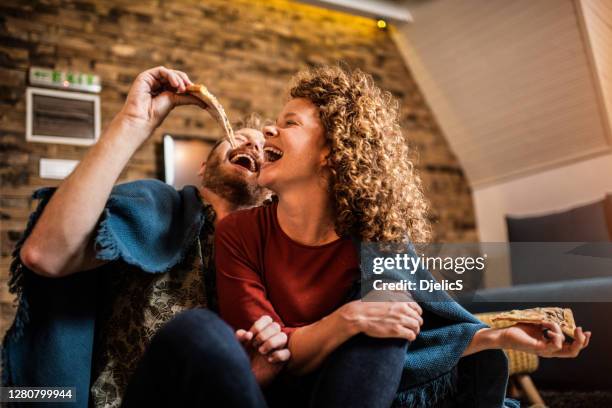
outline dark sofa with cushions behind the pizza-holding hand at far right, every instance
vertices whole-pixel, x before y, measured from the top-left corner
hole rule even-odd
[[[473,313],[542,306],[569,307],[576,324],[593,332],[576,359],[540,359],[532,374],[539,387],[612,389],[612,194],[568,211],[537,217],[507,217],[510,242],[583,242],[584,265],[525,268],[526,246],[511,250],[513,286],[481,289],[463,305]],[[600,244],[596,244],[600,243]]]

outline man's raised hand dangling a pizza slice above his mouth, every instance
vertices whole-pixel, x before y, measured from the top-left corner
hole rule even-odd
[[[122,119],[153,132],[170,111],[179,105],[199,105],[204,102],[193,95],[179,95],[192,82],[184,72],[155,67],[141,72],[130,87],[119,115]]]

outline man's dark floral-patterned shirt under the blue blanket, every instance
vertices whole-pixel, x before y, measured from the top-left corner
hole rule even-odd
[[[216,309],[214,221],[204,203],[199,239],[166,273],[146,273],[122,262],[107,265],[105,307],[97,319],[91,399],[95,407],[119,407],[132,373],[153,335],[176,314]]]

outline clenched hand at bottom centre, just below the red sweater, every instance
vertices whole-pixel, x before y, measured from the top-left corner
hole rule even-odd
[[[236,330],[236,338],[251,359],[251,369],[257,382],[269,384],[291,357],[287,335],[269,316],[262,316],[247,331]]]

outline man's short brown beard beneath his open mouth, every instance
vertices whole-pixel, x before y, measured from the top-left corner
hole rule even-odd
[[[225,170],[218,155],[206,163],[202,186],[227,200],[234,208],[254,207],[266,198],[266,189]]]

